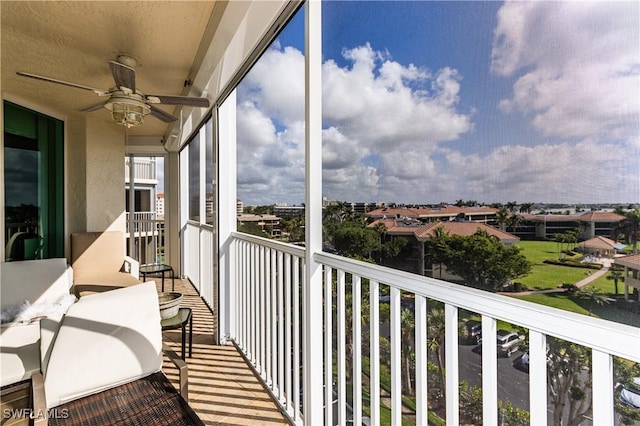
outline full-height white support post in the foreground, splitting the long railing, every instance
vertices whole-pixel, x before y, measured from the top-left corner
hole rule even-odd
[[[322,251],[322,6],[305,6],[305,232],[306,279],[303,288],[304,422],[324,423],[322,409],[322,265],[314,254]]]

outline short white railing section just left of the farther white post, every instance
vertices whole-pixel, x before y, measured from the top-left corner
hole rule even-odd
[[[214,228],[211,225],[187,222],[182,228],[182,274],[188,278],[200,296],[215,308]]]

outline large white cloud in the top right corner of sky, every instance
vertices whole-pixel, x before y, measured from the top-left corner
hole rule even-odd
[[[637,142],[638,16],[637,2],[505,3],[492,70],[516,82],[502,109],[524,113],[544,136]]]

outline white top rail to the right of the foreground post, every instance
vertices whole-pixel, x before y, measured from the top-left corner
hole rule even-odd
[[[640,362],[640,328],[329,253],[315,260],[382,284]]]

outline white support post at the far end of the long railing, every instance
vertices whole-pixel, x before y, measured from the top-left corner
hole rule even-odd
[[[231,233],[236,230],[236,92],[218,109],[218,255],[219,312],[221,342],[235,337],[233,312],[236,304],[235,251]]]

